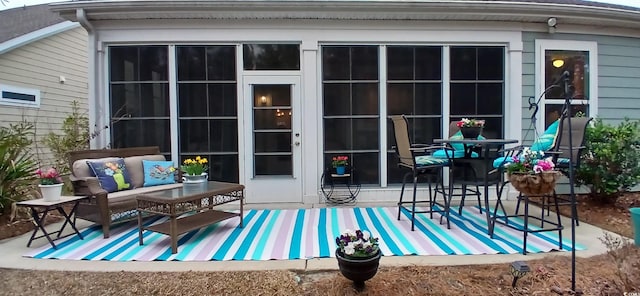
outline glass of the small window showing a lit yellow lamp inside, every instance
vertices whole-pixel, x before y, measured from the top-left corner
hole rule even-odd
[[[547,99],[564,99],[562,73],[569,73],[573,88],[572,98],[589,99],[589,52],[571,50],[545,51],[545,88],[556,84],[545,94]]]

